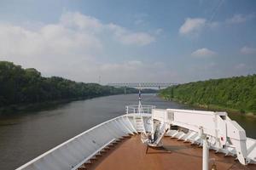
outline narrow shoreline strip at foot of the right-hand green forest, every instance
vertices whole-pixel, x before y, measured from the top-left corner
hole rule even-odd
[[[243,116],[256,118],[256,113],[253,113],[251,111],[240,111],[238,109],[223,107],[223,106],[220,106],[220,105],[189,104],[188,102],[183,102],[183,101],[178,100],[178,99],[167,98],[167,97],[165,97],[161,94],[158,94],[158,96],[161,99],[164,99],[166,101],[173,101],[173,102],[177,102],[179,104],[189,105],[191,107],[195,107],[195,108],[202,109],[202,110],[205,110],[205,111],[226,111],[226,112],[230,112],[230,113],[235,113],[235,114],[240,114],[240,115],[243,115]]]

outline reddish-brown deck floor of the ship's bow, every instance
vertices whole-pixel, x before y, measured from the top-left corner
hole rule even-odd
[[[97,170],[137,170],[137,169],[201,169],[202,150],[198,145],[183,143],[177,139],[165,137],[163,139],[165,149],[148,148],[141,142],[140,135],[134,135],[125,139],[103,156],[97,157],[90,165],[90,169]],[[210,150],[210,158],[215,159],[218,170],[221,169],[256,169],[256,165],[242,166],[232,156],[215,154]],[[210,163],[211,167],[212,162]]]

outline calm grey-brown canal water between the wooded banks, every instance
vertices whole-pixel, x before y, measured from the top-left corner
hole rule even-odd
[[[155,94],[143,94],[143,104],[163,109],[192,109],[164,101]],[[20,167],[90,127],[125,114],[125,105],[137,105],[137,94],[73,101],[50,109],[0,116],[0,169]],[[256,139],[255,118],[229,116],[246,129],[248,137]]]

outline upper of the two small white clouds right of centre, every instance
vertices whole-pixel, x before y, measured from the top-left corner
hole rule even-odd
[[[179,33],[182,35],[186,35],[189,33],[195,33],[197,31],[201,31],[201,29],[206,25],[207,20],[202,18],[187,18],[183,23],[183,26],[179,28]]]

